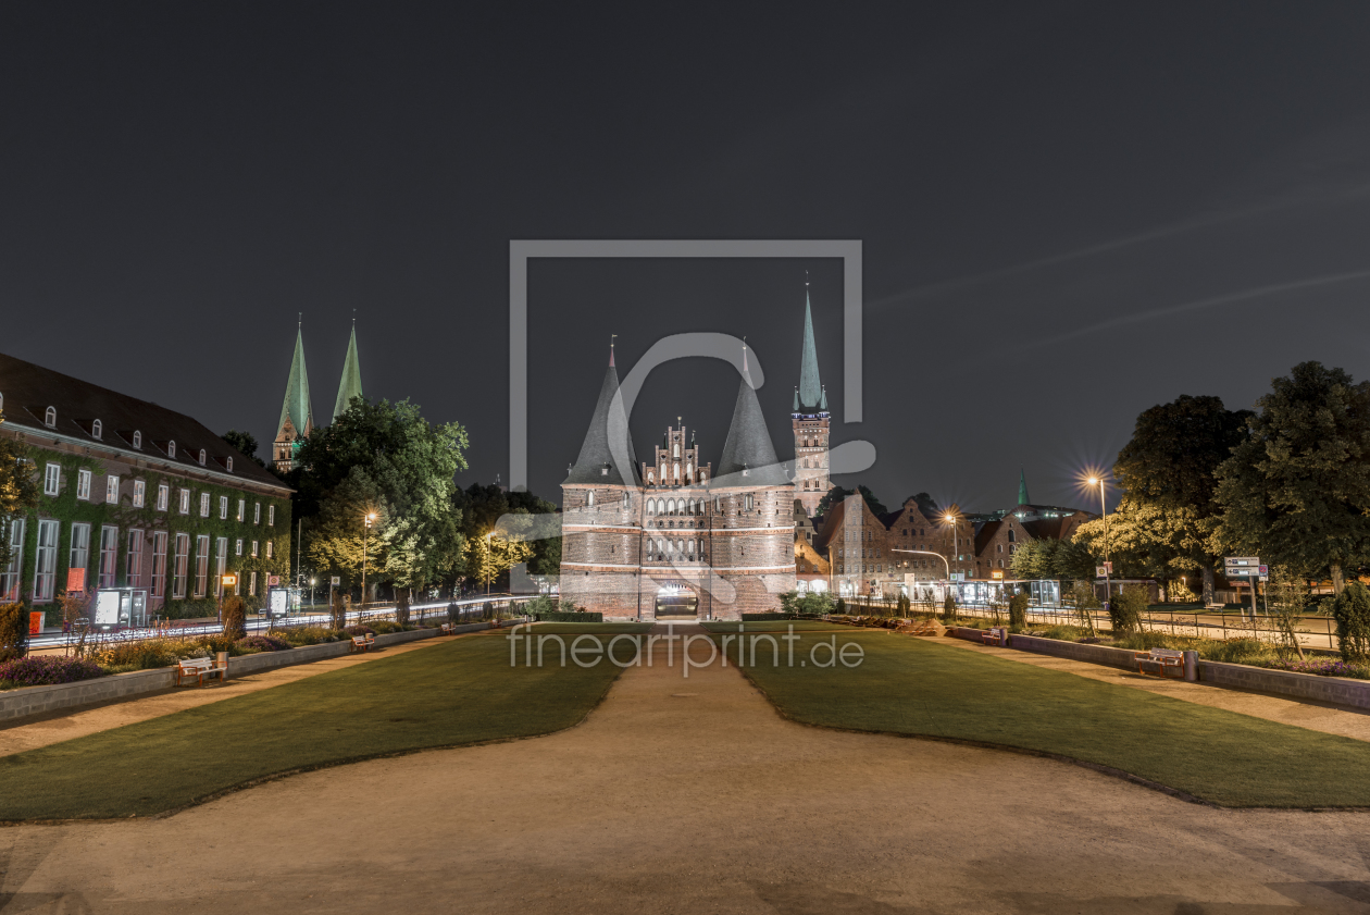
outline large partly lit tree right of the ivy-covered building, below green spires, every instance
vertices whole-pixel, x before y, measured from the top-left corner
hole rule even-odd
[[[353,398],[306,439],[290,473],[310,558],[355,582],[364,542],[369,584],[455,580],[464,538],[452,477],[466,468],[466,446],[459,424],[430,425],[408,401]]]

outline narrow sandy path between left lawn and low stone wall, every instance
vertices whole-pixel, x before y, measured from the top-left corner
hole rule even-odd
[[[149,717],[171,715],[181,709],[208,705],[221,700],[245,696],[256,690],[266,690],[282,683],[293,683],[307,676],[316,676],[327,671],[338,671],[353,664],[366,664],[384,657],[395,657],[406,652],[414,652],[429,645],[447,642],[456,637],[437,637],[421,639],[418,642],[401,642],[390,645],[377,652],[364,654],[342,654],[329,657],[310,664],[293,664],[278,667],[273,671],[248,674],[247,676],[232,678],[227,683],[219,685],[211,680],[200,687],[167,689],[158,693],[144,693],[137,698],[112,700],[97,705],[86,705],[77,711],[59,709],[47,715],[25,717],[14,723],[0,724],[0,756],[10,756],[37,746],[70,741],[74,737],[85,737],[96,731],[107,731],[111,727],[122,727],[134,722],[145,722]],[[0,911],[4,911],[0,908]]]

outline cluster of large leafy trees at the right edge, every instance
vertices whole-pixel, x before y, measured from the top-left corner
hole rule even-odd
[[[1107,535],[1095,520],[1075,542],[1122,575],[1197,573],[1206,602],[1230,554],[1341,594],[1370,562],[1370,381],[1303,362],[1255,406],[1184,395],[1145,410],[1114,465]]]

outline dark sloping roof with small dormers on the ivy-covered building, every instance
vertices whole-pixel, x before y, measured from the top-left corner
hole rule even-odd
[[[233,458],[234,477],[278,490],[288,488],[256,461],[184,413],[3,353],[0,398],[5,425],[37,433],[56,432],[85,440],[93,447],[144,454],[162,464],[185,466],[186,471],[201,469],[200,451],[204,450],[203,469],[229,473],[227,458]],[[45,423],[49,406],[56,410],[56,427]],[[99,436],[95,433],[97,420]],[[141,447],[133,444],[134,432],[142,433]],[[171,442],[175,442],[175,457],[169,454]]]

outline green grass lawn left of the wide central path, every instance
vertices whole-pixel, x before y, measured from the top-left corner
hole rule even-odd
[[[382,656],[0,757],[0,820],[160,813],[292,770],[549,734],[584,719],[619,674],[612,664],[511,669],[504,635]]]

